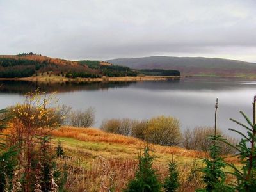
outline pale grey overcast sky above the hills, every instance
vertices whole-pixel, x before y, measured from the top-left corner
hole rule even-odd
[[[256,1],[0,0],[0,54],[256,62]]]

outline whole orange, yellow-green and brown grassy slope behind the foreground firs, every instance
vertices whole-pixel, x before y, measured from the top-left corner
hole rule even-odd
[[[134,176],[138,152],[145,146],[145,143],[136,138],[109,134],[99,129],[61,127],[53,131],[52,136],[54,143],[62,142],[68,157],[65,161],[70,166],[68,185],[71,191],[100,191],[102,180],[105,186],[113,186],[116,191],[121,191]],[[188,183],[187,180],[193,163],[202,165],[200,158],[206,156],[204,152],[159,145],[151,145],[150,148],[156,156],[154,168],[158,170],[161,180],[167,174],[166,166],[173,155],[173,159],[179,164],[182,182],[180,191],[193,191],[196,186],[200,186],[199,175],[197,181]],[[236,163],[235,158],[228,161]]]

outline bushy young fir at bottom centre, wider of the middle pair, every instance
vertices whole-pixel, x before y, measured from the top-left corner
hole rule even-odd
[[[152,168],[154,158],[149,154],[149,147],[145,147],[143,155],[139,155],[138,168],[135,178],[128,183],[125,192],[159,192],[161,184],[156,170]]]

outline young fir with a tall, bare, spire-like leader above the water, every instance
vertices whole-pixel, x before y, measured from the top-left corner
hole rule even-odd
[[[226,163],[220,157],[220,146],[217,144],[217,141],[221,140],[221,136],[216,135],[217,109],[218,99],[216,99],[215,105],[214,135],[209,136],[209,139],[212,140],[212,145],[209,148],[209,158],[204,159],[206,166],[202,168],[202,179],[205,183],[205,188],[198,191],[234,191],[232,187],[225,184],[224,168]]]

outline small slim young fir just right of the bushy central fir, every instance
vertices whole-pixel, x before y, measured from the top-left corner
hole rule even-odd
[[[166,192],[175,192],[179,188],[179,172],[177,171],[177,164],[173,161],[168,163],[169,175],[166,177],[163,188]]]

